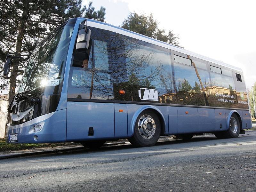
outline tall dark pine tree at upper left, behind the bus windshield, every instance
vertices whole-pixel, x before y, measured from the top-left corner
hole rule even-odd
[[[30,54],[36,45],[53,29],[68,18],[81,17],[86,10],[81,8],[82,0],[0,0],[0,61],[3,64],[8,52]],[[91,3],[91,2],[90,2]],[[91,3],[92,4],[92,3]],[[105,8],[96,12],[92,19],[104,21]],[[25,59],[12,59],[9,77],[3,77],[0,69],[1,87],[9,85],[8,101],[11,102],[27,64]],[[9,105],[9,103],[8,103]],[[7,119],[9,119],[9,114]]]

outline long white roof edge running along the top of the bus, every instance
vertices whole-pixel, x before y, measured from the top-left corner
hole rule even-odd
[[[77,22],[81,22],[84,19],[86,19],[86,18],[77,18]],[[235,66],[229,65],[229,64],[224,63],[222,61],[214,60],[212,58],[197,54],[195,52],[188,51],[188,50],[180,48],[178,46],[175,46],[175,45],[172,45],[172,44],[169,44],[169,43],[165,43],[163,41],[154,39],[152,37],[141,35],[139,33],[136,33],[136,32],[124,29],[124,28],[120,28],[120,27],[117,27],[117,26],[114,26],[114,25],[111,25],[111,24],[108,24],[108,23],[104,23],[104,22],[101,22],[101,21],[92,20],[92,19],[87,19],[87,20],[88,20],[88,25],[89,26],[110,30],[110,31],[113,31],[113,32],[116,32],[116,33],[119,33],[119,34],[122,34],[122,35],[125,35],[125,36],[130,36],[130,37],[133,37],[133,38],[136,38],[136,39],[140,39],[140,40],[146,41],[148,43],[156,44],[158,46],[165,47],[165,48],[171,49],[173,51],[181,52],[181,53],[184,53],[184,54],[187,54],[187,55],[190,55],[190,56],[202,59],[202,60],[206,60],[206,61],[218,64],[218,65],[221,65],[221,66],[224,66],[224,67],[227,67],[227,68],[232,68],[234,70],[242,72],[241,68],[237,68]]]

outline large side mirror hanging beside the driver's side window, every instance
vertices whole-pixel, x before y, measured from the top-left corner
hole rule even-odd
[[[76,50],[77,51],[88,50],[90,37],[91,37],[90,29],[87,28],[87,31],[86,29],[80,29],[78,32],[77,41],[76,41]]]

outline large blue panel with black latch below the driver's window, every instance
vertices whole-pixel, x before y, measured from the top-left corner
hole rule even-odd
[[[67,107],[67,141],[114,138],[114,103],[72,101]]]

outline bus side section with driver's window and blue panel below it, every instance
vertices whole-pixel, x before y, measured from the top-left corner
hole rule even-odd
[[[114,138],[109,32],[90,27],[89,49],[74,49],[68,78],[67,141]]]

